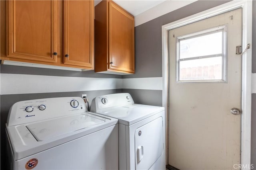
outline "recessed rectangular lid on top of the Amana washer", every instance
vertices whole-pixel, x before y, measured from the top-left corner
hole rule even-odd
[[[65,133],[74,132],[86,127],[104,123],[100,117],[92,117],[88,114],[78,114],[67,117],[59,117],[38,123],[26,125],[37,141],[45,141]]]

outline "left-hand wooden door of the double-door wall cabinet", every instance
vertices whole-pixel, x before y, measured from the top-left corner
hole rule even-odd
[[[7,56],[56,63],[56,1],[8,1]]]

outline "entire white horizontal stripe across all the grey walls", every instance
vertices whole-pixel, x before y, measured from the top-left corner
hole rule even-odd
[[[162,77],[122,79],[0,74],[1,95],[110,89],[162,90],[162,84]],[[252,73],[252,93],[256,93],[256,73]]]

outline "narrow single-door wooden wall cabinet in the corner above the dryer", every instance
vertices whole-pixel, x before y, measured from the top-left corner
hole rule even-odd
[[[95,7],[95,72],[134,74],[134,16],[110,0]]]

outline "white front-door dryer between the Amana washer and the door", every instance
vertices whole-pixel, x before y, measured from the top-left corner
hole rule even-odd
[[[94,98],[91,111],[118,119],[120,170],[166,169],[164,107],[134,104],[120,93]]]

